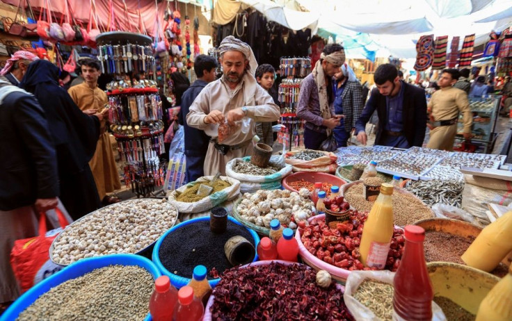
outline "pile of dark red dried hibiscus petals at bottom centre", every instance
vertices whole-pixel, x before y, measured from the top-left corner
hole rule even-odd
[[[323,289],[316,275],[299,264],[227,270],[213,291],[211,320],[353,320],[336,283]]]

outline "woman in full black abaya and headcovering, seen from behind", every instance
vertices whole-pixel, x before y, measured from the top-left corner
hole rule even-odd
[[[84,114],[58,85],[58,68],[47,60],[29,65],[20,87],[31,92],[45,110],[56,149],[59,196],[73,220],[100,206],[88,162],[99,138],[99,119]]]

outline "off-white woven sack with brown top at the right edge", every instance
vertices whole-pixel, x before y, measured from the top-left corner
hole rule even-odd
[[[462,208],[481,224],[490,223],[486,211],[489,204],[512,204],[512,182],[482,176],[464,175]]]

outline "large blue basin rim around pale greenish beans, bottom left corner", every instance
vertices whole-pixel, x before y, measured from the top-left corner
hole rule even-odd
[[[83,258],[26,291],[26,293],[11,304],[11,306],[9,306],[9,308],[1,315],[0,321],[16,320],[19,313],[25,311],[25,309],[33,304],[36,299],[47,293],[51,288],[54,288],[67,280],[81,277],[82,275],[97,268],[104,268],[109,265],[137,265],[147,270],[147,272],[150,272],[153,279],[157,279],[157,277],[161,276],[160,271],[152,261],[135,254],[111,254],[106,256],[97,256],[94,258]],[[151,320],[149,313],[147,313],[145,320]]]

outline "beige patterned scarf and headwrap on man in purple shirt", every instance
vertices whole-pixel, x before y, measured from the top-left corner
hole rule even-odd
[[[314,65],[314,69],[312,72],[314,81],[317,82],[320,115],[324,120],[328,120],[333,116],[330,114],[329,97],[327,95],[326,75],[323,73],[323,67],[321,63],[321,60],[323,59],[325,59],[328,63],[341,66],[345,62],[345,52],[336,51],[330,53],[329,55],[322,53],[320,55],[320,60],[318,60],[317,64]],[[327,136],[330,136],[332,132],[333,130],[328,128]]]

